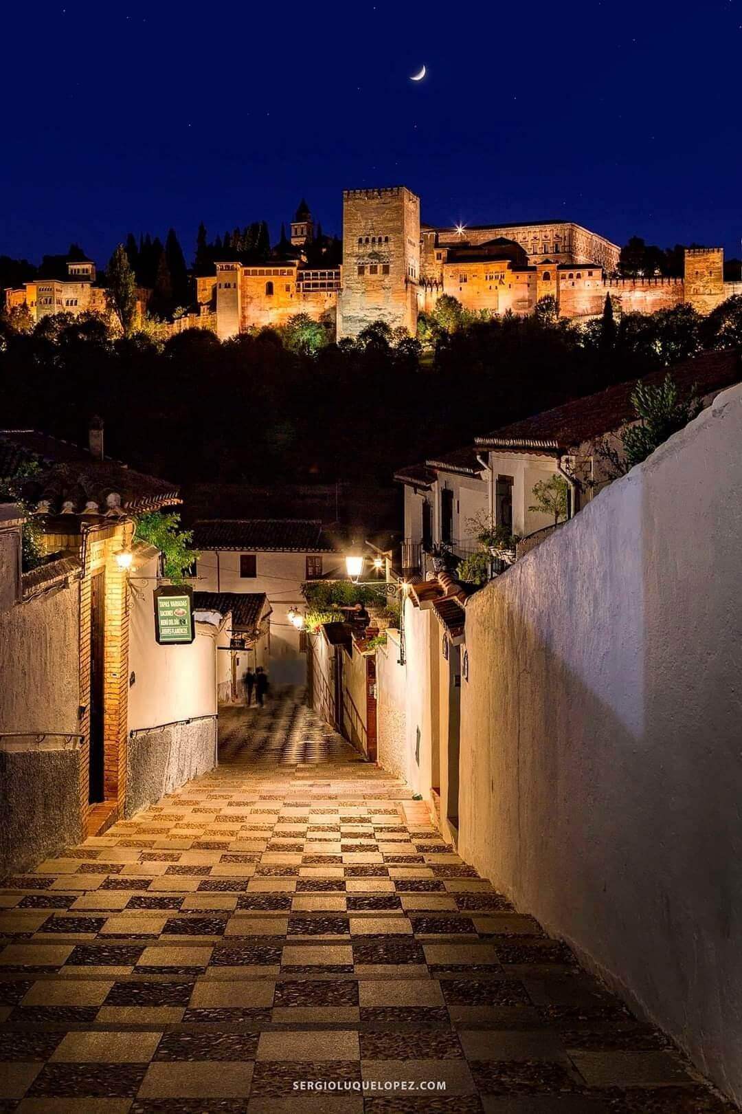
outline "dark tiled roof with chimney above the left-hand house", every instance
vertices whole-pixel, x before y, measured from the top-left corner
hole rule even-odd
[[[0,430],[0,478],[38,461],[40,472],[22,482],[23,498],[43,514],[100,510],[144,514],[181,500],[169,480],[138,472],[118,460],[97,460],[87,449],[37,430]]]

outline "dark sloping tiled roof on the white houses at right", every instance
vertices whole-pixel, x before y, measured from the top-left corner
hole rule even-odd
[[[693,389],[695,394],[703,398],[739,383],[742,380],[742,361],[740,352],[732,349],[704,352],[694,360],[643,375],[641,381],[657,385],[667,373],[681,391]],[[596,394],[573,399],[553,410],[544,410],[532,418],[503,426],[486,437],[477,437],[476,444],[526,452],[537,452],[541,449],[542,452],[552,455],[557,449],[575,448],[633,420],[631,395],[637,382],[632,379],[626,383],[617,383]]]

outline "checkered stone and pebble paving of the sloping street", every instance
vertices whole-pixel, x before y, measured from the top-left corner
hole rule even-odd
[[[295,693],[224,720],[212,773],[6,880],[0,1114],[731,1110]]]

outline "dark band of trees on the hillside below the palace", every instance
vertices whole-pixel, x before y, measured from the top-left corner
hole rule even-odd
[[[488,429],[704,348],[742,345],[742,297],[708,317],[680,306],[616,320],[609,301],[582,328],[548,306],[451,331],[433,320],[426,350],[383,324],[323,343],[308,319],[224,343],[200,330],[165,344],[115,339],[100,320],[66,314],[27,332],[0,328],[0,427],[85,442],[99,413],[107,453],[180,483],[388,482],[395,468]]]

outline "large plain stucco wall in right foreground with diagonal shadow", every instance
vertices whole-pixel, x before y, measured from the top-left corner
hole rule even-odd
[[[467,606],[463,857],[742,1100],[742,388]]]

